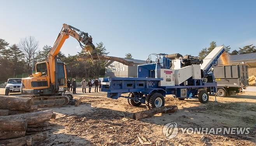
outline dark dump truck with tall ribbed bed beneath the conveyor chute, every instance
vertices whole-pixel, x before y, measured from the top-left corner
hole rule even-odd
[[[242,92],[249,85],[247,65],[218,65],[213,67],[217,96],[225,97]]]

